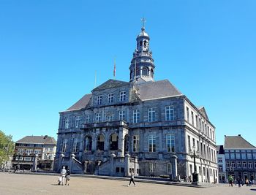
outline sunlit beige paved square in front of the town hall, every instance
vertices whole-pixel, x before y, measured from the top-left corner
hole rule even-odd
[[[0,194],[256,194],[255,186],[233,188],[220,185],[211,188],[191,188],[163,184],[139,183],[128,187],[128,181],[103,180],[86,177],[71,177],[70,186],[58,186],[57,176],[53,175],[21,175],[0,173]],[[136,182],[136,180],[135,180]]]

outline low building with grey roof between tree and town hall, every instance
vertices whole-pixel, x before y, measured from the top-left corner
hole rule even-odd
[[[56,140],[53,137],[26,136],[15,142],[12,166],[25,170],[53,170]]]

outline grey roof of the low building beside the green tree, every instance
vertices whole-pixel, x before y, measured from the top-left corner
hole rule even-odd
[[[16,143],[33,143],[33,144],[54,144],[56,145],[56,140],[49,136],[26,136],[18,140]]]

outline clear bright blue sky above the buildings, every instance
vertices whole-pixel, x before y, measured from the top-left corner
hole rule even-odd
[[[59,112],[129,80],[140,18],[156,65],[224,135],[256,145],[256,1],[0,1],[0,129],[56,137]]]

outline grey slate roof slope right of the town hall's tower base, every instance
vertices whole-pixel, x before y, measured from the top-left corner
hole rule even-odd
[[[183,95],[169,80],[159,80],[136,85],[141,100],[162,99]]]

